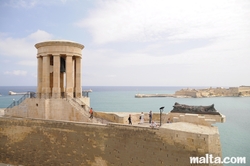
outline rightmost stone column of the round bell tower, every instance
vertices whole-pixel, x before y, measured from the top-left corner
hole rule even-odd
[[[82,97],[81,57],[75,58],[75,97]]]

